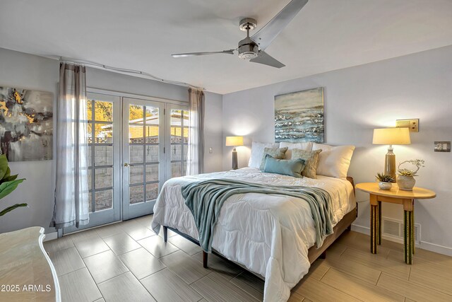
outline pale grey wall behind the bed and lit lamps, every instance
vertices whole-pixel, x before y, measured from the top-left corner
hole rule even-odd
[[[452,140],[452,47],[223,95],[223,136],[246,137],[246,146],[237,149],[239,165],[247,165],[251,141],[274,141],[275,95],[319,86],[325,88],[326,143],[357,146],[349,170],[355,182],[374,181],[383,170],[387,146],[371,144],[372,129],[394,127],[396,119],[420,119],[412,144],[395,146],[396,161],[425,160],[417,185],[434,190],[437,197],[415,202],[421,247],[452,255],[452,153],[433,151],[434,141]],[[229,169],[229,147],[224,155],[223,168]],[[365,231],[369,197],[357,193],[357,199],[366,201],[359,204],[355,221]],[[383,216],[403,220],[402,214],[402,207],[383,204]]]

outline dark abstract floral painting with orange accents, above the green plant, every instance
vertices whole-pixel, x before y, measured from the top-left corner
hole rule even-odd
[[[52,159],[53,93],[0,86],[0,153],[8,161]]]

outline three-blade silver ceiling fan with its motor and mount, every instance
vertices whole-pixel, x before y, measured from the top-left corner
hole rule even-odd
[[[185,54],[172,54],[172,57],[194,57],[206,54],[234,54],[239,53],[239,58],[249,59],[249,62],[273,66],[276,68],[284,67],[285,64],[264,52],[268,45],[279,35],[281,31],[292,21],[297,13],[307,4],[308,0],[292,0],[282,11],[273,17],[257,33],[249,36],[249,31],[254,30],[257,22],[253,18],[244,18],[240,21],[240,30],[246,31],[246,37],[239,42],[239,47],[234,50],[223,50],[222,52],[188,52]]]

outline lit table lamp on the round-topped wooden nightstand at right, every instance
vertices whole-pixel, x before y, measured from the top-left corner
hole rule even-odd
[[[393,153],[393,145],[411,144],[410,129],[408,128],[383,128],[374,129],[372,144],[389,145],[388,153],[384,158],[384,173],[391,175],[396,180],[396,154]]]

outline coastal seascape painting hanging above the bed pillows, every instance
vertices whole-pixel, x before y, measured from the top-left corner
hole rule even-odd
[[[275,142],[324,142],[323,87],[275,96]]]

